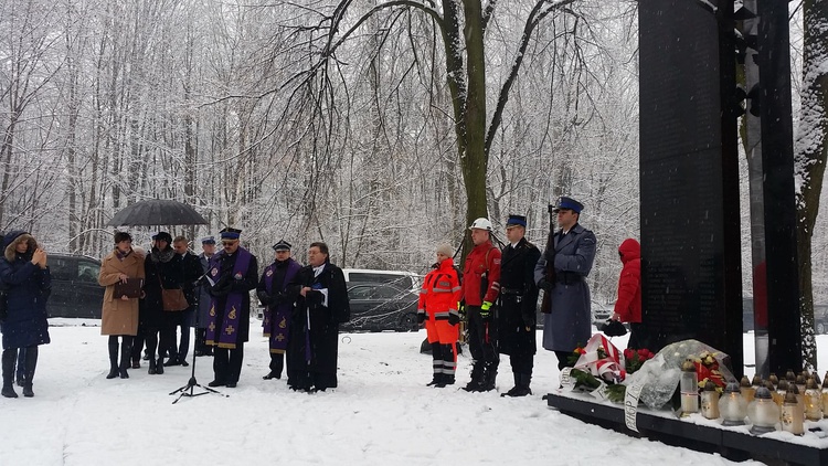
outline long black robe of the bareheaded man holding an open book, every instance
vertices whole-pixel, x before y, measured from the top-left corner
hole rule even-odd
[[[306,297],[299,290],[309,286]],[[328,290],[327,306],[320,290]],[[325,390],[337,386],[337,356],[339,324],[350,315],[348,288],[342,269],[326,263],[315,276],[314,267],[305,266],[288,285],[288,294],[296,296],[290,318],[287,347],[287,383],[294,390]]]

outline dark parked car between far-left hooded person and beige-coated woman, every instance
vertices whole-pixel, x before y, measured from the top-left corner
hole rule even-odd
[[[49,254],[52,293],[49,317],[99,319],[104,287],[98,285],[100,261],[83,255]]]

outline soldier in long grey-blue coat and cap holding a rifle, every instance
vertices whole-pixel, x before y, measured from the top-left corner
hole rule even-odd
[[[572,198],[560,198],[552,213],[560,230],[550,231],[546,248],[534,267],[534,279],[543,293],[550,295],[549,309],[542,309],[543,348],[554,351],[558,368],[569,366],[569,358],[578,346],[592,337],[590,275],[595,261],[595,234],[578,220],[584,205]],[[550,248],[551,245],[551,248]],[[546,271],[551,264],[553,274]]]

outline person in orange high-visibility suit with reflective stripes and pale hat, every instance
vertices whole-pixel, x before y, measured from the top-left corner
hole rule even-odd
[[[434,379],[428,385],[442,389],[454,384],[457,369],[457,337],[460,314],[460,280],[454,268],[452,247],[447,244],[437,247],[436,268],[423,279],[420,292],[417,320],[425,321],[428,342],[432,345]]]

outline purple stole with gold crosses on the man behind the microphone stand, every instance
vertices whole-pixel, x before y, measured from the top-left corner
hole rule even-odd
[[[247,267],[251,265],[251,255],[244,247],[238,247],[236,251],[238,256],[233,265],[233,279],[236,277],[244,277],[247,274]],[[223,253],[215,254],[210,260],[210,269],[208,275],[213,283],[219,280],[221,274],[221,258],[224,256]],[[246,292],[237,293],[231,292],[227,294],[226,301],[224,303],[224,313],[222,320],[219,321],[219,316],[215,311],[215,307],[219,304],[219,299],[213,296],[210,299],[210,313],[208,315],[208,328],[205,340],[210,346],[217,346],[219,348],[235,349],[236,338],[238,336],[238,325],[241,322],[242,304],[244,303],[244,295]]]

